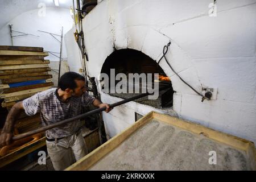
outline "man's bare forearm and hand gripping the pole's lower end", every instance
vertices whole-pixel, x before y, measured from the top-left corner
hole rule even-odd
[[[3,130],[0,135],[0,147],[7,146],[11,143],[14,124],[22,110],[24,110],[22,102],[17,102],[13,107],[11,107],[6,118],[5,126],[3,126]]]

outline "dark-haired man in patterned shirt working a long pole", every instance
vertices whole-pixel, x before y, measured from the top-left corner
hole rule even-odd
[[[64,73],[60,77],[59,88],[39,92],[12,107],[0,136],[0,147],[11,143],[15,120],[22,110],[29,116],[40,112],[42,125],[46,126],[75,117],[81,114],[82,106],[90,104],[106,107],[107,113],[111,110],[108,104],[102,104],[86,92],[83,76],[75,72]],[[70,166],[73,163],[73,155],[79,160],[87,154],[80,127],[80,121],[73,121],[46,131],[47,151],[55,170]]]

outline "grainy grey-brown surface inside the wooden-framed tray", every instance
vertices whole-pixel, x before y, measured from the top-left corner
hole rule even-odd
[[[248,161],[245,151],[152,119],[90,170],[250,170]]]

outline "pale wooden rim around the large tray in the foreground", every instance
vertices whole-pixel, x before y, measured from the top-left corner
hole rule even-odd
[[[123,130],[121,133],[115,135],[113,138],[109,139],[100,147],[96,148],[88,155],[85,155],[76,163],[66,168],[65,171],[80,171],[89,169],[94,164],[96,164],[100,159],[104,158],[105,155],[109,154],[109,152],[117,148],[123,141],[125,141],[131,134],[137,131],[140,127],[150,122],[151,119],[153,118],[158,119],[158,121],[160,122],[165,122],[170,125],[174,125],[176,127],[190,131],[195,134],[203,134],[205,135],[205,137],[216,140],[217,142],[228,144],[229,146],[232,146],[234,148],[246,151],[247,156],[250,156],[250,158],[254,159],[250,161],[250,166],[254,170],[256,170],[256,148],[253,142],[243,138],[236,137],[234,135],[223,133],[221,131],[210,129],[209,127],[189,122],[184,119],[172,117],[167,114],[158,113],[156,111],[151,111],[150,113],[144,115],[142,118],[136,121],[133,125]]]

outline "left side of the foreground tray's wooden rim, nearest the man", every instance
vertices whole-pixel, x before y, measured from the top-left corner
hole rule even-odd
[[[65,171],[80,171],[80,170],[86,170],[93,166],[93,164],[96,164],[98,160],[103,158],[106,154],[108,154],[110,151],[114,150],[119,144],[121,144],[126,138],[128,138],[131,134],[133,134],[136,130],[138,130],[141,126],[146,124],[150,121],[152,118],[152,111],[141,119],[139,119],[137,122],[135,122],[133,125],[128,127],[126,130],[122,131],[120,134],[115,135],[112,139],[108,140],[108,142],[102,144],[100,147],[96,148],[92,152],[90,152],[88,155],[85,155],[83,158],[78,160],[76,163],[72,164],[68,168],[65,169]]]

